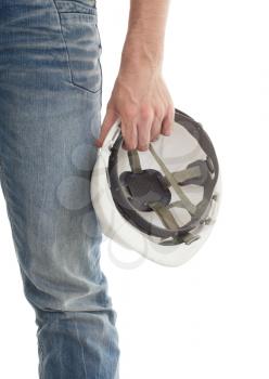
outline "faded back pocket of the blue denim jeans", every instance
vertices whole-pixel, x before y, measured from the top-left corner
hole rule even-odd
[[[95,8],[59,12],[65,41],[71,79],[74,86],[89,92],[102,89],[101,38]]]

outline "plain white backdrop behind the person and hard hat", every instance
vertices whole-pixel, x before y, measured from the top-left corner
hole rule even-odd
[[[117,312],[120,379],[269,377],[269,53],[267,1],[170,2],[163,74],[175,106],[218,153],[222,204],[185,265],[162,267],[104,240]],[[103,108],[117,75],[128,0],[98,0]],[[23,295],[0,195],[1,378],[37,379],[34,310]],[[114,260],[112,259],[114,258]],[[74,378],[76,379],[76,378]]]

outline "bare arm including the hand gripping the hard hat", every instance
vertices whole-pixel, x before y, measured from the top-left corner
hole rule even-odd
[[[119,73],[106,106],[102,145],[118,117],[127,149],[145,151],[159,133],[169,135],[174,104],[162,78],[169,0],[130,0]]]

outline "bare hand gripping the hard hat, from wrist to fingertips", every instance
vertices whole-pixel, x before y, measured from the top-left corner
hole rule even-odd
[[[161,133],[171,133],[175,107],[159,70],[150,67],[119,70],[97,146],[102,146],[118,118],[124,147],[128,151],[146,151]]]

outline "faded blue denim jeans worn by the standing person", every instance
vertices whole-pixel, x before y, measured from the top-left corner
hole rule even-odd
[[[0,2],[1,187],[39,378],[118,378],[116,312],[90,199],[101,123],[94,0]]]

